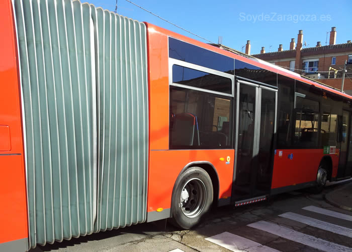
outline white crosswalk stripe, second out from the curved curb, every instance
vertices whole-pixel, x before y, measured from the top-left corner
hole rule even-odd
[[[312,227],[317,227],[326,231],[330,231],[336,234],[341,234],[352,238],[352,229],[347,227],[341,227],[329,222],[313,219],[304,215],[295,214],[291,212],[280,214],[279,216],[288,218],[290,220],[298,221]]]

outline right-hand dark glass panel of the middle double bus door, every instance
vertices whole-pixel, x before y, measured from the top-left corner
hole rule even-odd
[[[261,90],[259,152],[254,194],[264,195],[270,191],[272,177],[272,152],[275,125],[275,92]]]

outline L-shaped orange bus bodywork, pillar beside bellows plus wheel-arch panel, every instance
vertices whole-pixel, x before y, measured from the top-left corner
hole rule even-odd
[[[210,162],[217,169],[219,198],[231,197],[234,150],[168,150],[169,146],[169,85],[168,37],[170,33],[147,25],[149,73],[149,171],[147,221],[169,217],[174,182],[190,162]],[[230,164],[226,165],[226,157]],[[219,158],[224,158],[220,161]],[[163,208],[163,212],[156,212]],[[168,209],[165,211],[165,209]],[[156,213],[151,218],[151,212]],[[155,217],[156,216],[156,217]]]

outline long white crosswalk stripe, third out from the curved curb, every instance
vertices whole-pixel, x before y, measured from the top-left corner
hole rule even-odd
[[[299,242],[308,245],[313,248],[317,248],[323,251],[335,251],[335,252],[352,252],[352,248],[336,244],[327,240],[316,238],[312,235],[301,233],[293,229],[283,227],[267,221],[258,221],[255,223],[248,224],[247,226],[256,228],[262,231],[266,231],[277,236],[283,237],[288,240]]]

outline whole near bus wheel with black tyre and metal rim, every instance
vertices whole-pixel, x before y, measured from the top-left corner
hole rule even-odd
[[[183,172],[173,187],[172,222],[184,229],[200,223],[213,202],[213,185],[209,174],[200,167]]]

